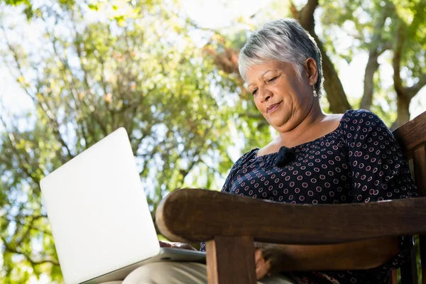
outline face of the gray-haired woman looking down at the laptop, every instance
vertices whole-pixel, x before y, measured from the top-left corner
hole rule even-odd
[[[315,65],[315,76],[312,76],[312,65]],[[249,92],[258,110],[275,130],[290,131],[309,114],[314,100],[312,85],[317,80],[316,67],[315,60],[308,59],[302,80],[287,62],[271,61],[247,70]]]

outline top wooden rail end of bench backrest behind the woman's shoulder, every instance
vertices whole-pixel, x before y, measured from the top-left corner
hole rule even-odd
[[[393,131],[403,152],[410,159],[416,148],[426,146],[426,111]]]

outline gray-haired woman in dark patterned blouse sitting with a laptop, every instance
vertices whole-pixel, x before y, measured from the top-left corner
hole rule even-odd
[[[222,192],[287,204],[417,196],[400,146],[376,114],[321,110],[321,53],[297,21],[273,21],[253,33],[241,49],[239,71],[278,136],[239,158]],[[256,275],[259,283],[387,283],[388,271],[406,260],[412,244],[409,237],[321,246],[256,244]],[[123,283],[207,283],[206,266],[151,263]]]

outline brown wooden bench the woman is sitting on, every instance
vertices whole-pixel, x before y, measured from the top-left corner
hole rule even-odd
[[[172,241],[207,244],[208,283],[254,284],[253,241],[275,244],[339,244],[420,234],[422,283],[426,284],[426,112],[394,131],[423,197],[362,204],[291,205],[212,190],[170,193],[156,212],[161,233]],[[363,222],[368,219],[368,222]],[[241,222],[244,220],[243,222]],[[419,245],[419,244],[416,244]],[[415,250],[400,268],[401,282],[417,283]],[[390,283],[398,283],[391,271]]]

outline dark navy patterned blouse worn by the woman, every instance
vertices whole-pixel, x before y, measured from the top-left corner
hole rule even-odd
[[[293,156],[285,163],[283,148],[259,157],[258,148],[245,153],[232,166],[222,192],[289,204],[380,202],[417,196],[400,146],[371,111],[346,111],[336,130],[291,148]],[[398,256],[378,268],[301,272],[291,277],[296,283],[388,283],[388,271],[406,261],[413,246],[412,237],[399,239]],[[205,251],[204,243],[201,251]]]

